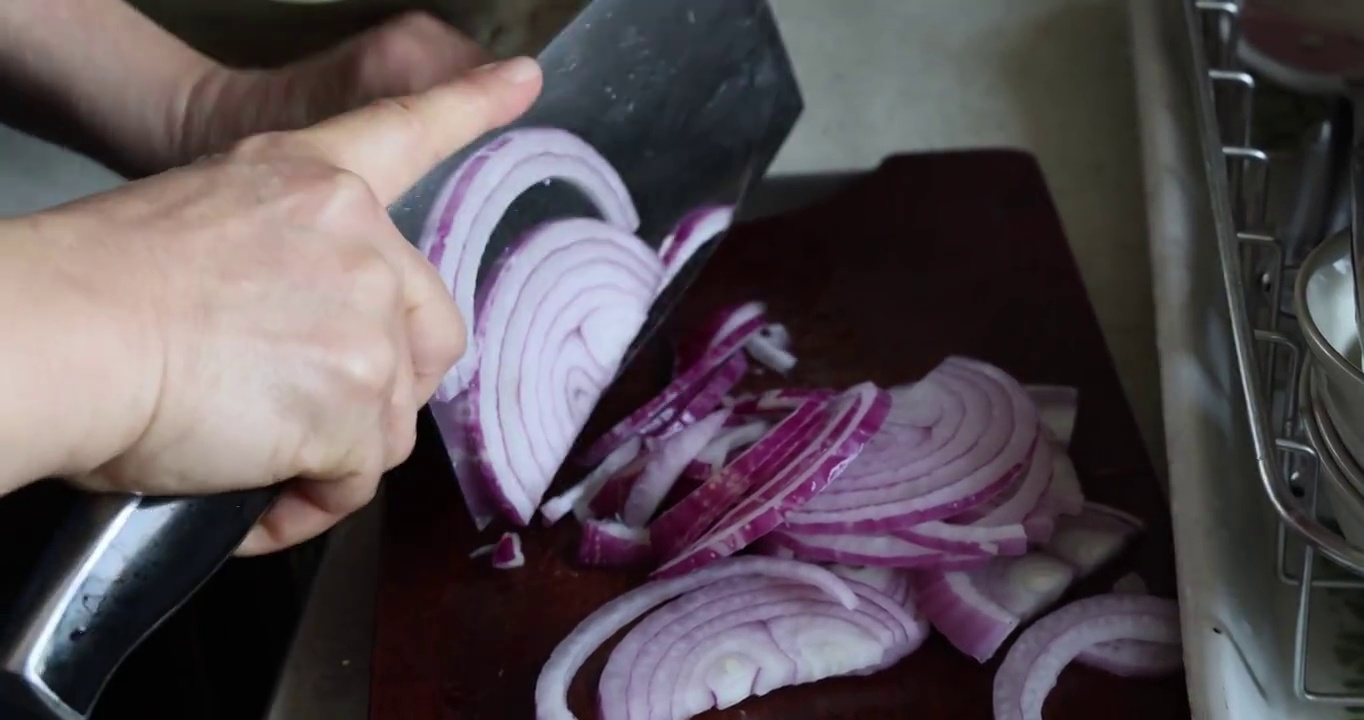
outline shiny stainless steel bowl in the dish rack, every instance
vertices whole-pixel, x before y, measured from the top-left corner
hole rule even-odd
[[[1356,464],[1364,465],[1364,370],[1354,323],[1349,233],[1337,233],[1303,262],[1293,310],[1320,375],[1318,397]],[[1364,492],[1364,487],[1359,487]]]

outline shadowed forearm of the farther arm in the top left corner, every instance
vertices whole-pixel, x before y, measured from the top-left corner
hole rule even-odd
[[[214,63],[124,0],[0,0],[0,82],[56,105],[120,164],[164,164]]]

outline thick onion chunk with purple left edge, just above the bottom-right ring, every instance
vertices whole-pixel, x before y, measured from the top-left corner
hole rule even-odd
[[[956,649],[986,661],[1020,623],[1056,603],[1075,580],[1063,560],[1031,552],[996,558],[963,571],[921,571],[914,575],[919,608]]]

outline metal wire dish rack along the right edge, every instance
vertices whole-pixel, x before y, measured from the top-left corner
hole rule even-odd
[[[1230,311],[1262,490],[1278,515],[1277,571],[1296,588],[1293,690],[1311,702],[1364,706],[1364,687],[1326,691],[1314,683],[1308,640],[1318,593],[1364,601],[1364,551],[1349,544],[1319,502],[1319,449],[1303,425],[1300,393],[1308,355],[1292,311],[1294,266],[1269,218],[1271,158],[1255,145],[1256,76],[1239,60],[1241,3],[1188,0],[1198,83],[1198,123],[1218,254]],[[1319,635],[1318,635],[1319,637]]]

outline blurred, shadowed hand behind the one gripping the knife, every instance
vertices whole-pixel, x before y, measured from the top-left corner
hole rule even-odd
[[[372,100],[421,93],[491,59],[436,18],[411,12],[277,70],[213,65],[172,113],[173,140],[151,169],[190,164],[261,132],[304,128]]]

